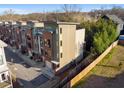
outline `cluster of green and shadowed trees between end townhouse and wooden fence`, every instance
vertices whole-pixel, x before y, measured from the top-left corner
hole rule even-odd
[[[82,22],[80,28],[86,30],[86,51],[97,54],[102,53],[118,36],[117,26],[111,20]]]

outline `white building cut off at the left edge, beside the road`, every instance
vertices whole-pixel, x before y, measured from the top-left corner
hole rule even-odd
[[[0,88],[12,87],[12,80],[4,53],[4,47],[7,45],[0,40]]]

